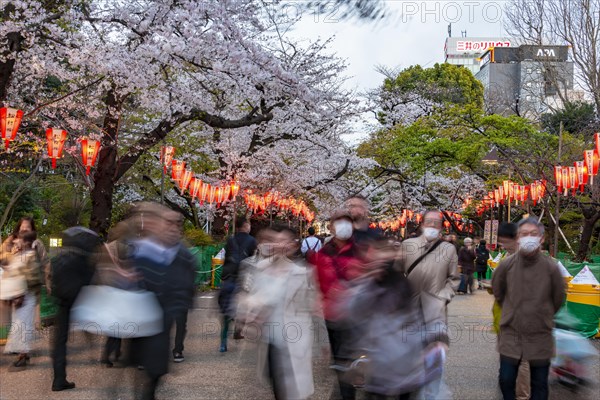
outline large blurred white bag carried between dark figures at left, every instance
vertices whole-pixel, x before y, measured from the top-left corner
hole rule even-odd
[[[84,286],[71,308],[73,329],[116,338],[153,336],[163,331],[163,311],[145,290]]]

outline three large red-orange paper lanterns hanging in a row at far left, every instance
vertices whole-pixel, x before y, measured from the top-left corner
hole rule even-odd
[[[0,108],[0,134],[6,150],[8,150],[10,142],[15,140],[22,120],[23,111],[10,107]],[[56,160],[62,158],[66,139],[67,131],[56,128],[46,129],[47,151],[48,157],[52,160],[52,169],[56,168]],[[89,175],[91,168],[96,164],[96,158],[101,147],[100,142],[84,137],[80,143],[85,174]]]

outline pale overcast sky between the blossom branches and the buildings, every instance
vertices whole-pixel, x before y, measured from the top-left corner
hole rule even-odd
[[[469,37],[503,37],[503,9],[506,1],[405,1],[387,0],[393,17],[383,22],[339,22],[340,12],[326,10],[320,15],[301,14],[292,35],[299,38],[326,39],[335,36],[331,49],[348,61],[348,82],[361,92],[381,84],[377,65],[406,68],[411,65],[432,66],[444,61],[444,43],[448,24],[452,36],[467,31]],[[288,15],[301,13],[291,0]],[[362,130],[358,128],[357,130]],[[364,137],[357,132],[352,142]]]

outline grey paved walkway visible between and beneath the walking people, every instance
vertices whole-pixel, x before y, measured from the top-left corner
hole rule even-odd
[[[489,332],[492,323],[492,296],[478,291],[473,296],[457,296],[449,309],[452,344],[448,356],[446,382],[457,400],[500,399],[497,385],[498,357],[496,338]],[[185,361],[172,364],[157,394],[159,399],[271,399],[268,388],[261,386],[255,373],[255,348],[249,341],[230,341],[229,352],[219,353],[219,323],[214,293],[198,298],[191,312],[186,339]],[[21,372],[7,372],[13,356],[0,356],[1,400],[53,399],[134,399],[136,369],[101,368],[102,340],[95,336],[75,334],[69,347],[69,380],[77,388],[51,392],[51,360],[49,332],[40,332],[32,355],[32,364]],[[328,345],[320,332],[315,345],[314,375],[316,392],[312,399],[327,400],[331,396],[333,374],[328,369]],[[595,346],[600,348],[599,341]],[[595,365],[600,382],[600,366]],[[595,386],[574,394],[560,385],[552,385],[551,399],[598,399]]]

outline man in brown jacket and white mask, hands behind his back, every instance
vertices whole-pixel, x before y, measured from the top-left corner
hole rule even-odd
[[[529,362],[531,398],[548,398],[548,372],[554,353],[554,314],[565,300],[565,285],[556,262],[542,254],[544,225],[536,218],[519,222],[519,250],[502,260],[492,290],[502,307],[498,352],[500,389],[515,398],[519,364]]]

